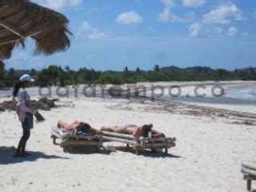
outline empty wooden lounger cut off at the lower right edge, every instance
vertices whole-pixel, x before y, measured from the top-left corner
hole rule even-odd
[[[242,162],[241,172],[243,179],[246,180],[247,190],[251,190],[251,182],[256,180],[256,161],[244,161]]]

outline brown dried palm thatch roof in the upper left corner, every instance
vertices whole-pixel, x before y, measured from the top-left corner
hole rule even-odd
[[[0,0],[0,59],[10,58],[24,39],[35,40],[34,54],[54,54],[70,47],[69,20],[30,0]]]

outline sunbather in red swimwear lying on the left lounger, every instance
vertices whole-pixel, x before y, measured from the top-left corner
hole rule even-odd
[[[67,124],[66,122],[63,121],[58,121],[58,128],[62,128],[63,130],[66,131],[72,131],[74,129],[79,129],[79,130],[89,130],[90,133],[92,134],[98,134],[98,135],[102,135],[102,131],[101,130],[97,130],[92,128],[88,123],[86,122],[72,122],[70,124]]]

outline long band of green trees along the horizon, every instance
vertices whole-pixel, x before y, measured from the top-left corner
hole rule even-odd
[[[194,66],[185,69],[178,67],[160,67],[155,65],[152,70],[129,70],[126,66],[123,71],[96,71],[83,67],[79,70],[70,70],[69,66],[51,65],[43,70],[9,70],[0,65],[0,86],[13,86],[14,82],[24,74],[30,74],[37,86],[66,86],[75,84],[115,84],[136,82],[171,82],[171,81],[231,81],[256,80],[256,69],[249,67],[238,70],[212,70],[209,67]]]

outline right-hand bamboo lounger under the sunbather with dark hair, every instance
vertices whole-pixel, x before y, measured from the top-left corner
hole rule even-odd
[[[132,135],[129,134],[117,134],[108,131],[103,132],[103,140],[106,142],[122,142],[126,143],[127,147],[132,146],[136,150],[136,154],[141,150],[155,150],[155,149],[165,149],[165,154],[168,154],[168,149],[170,147],[176,146],[176,138],[138,138],[134,139]]]

